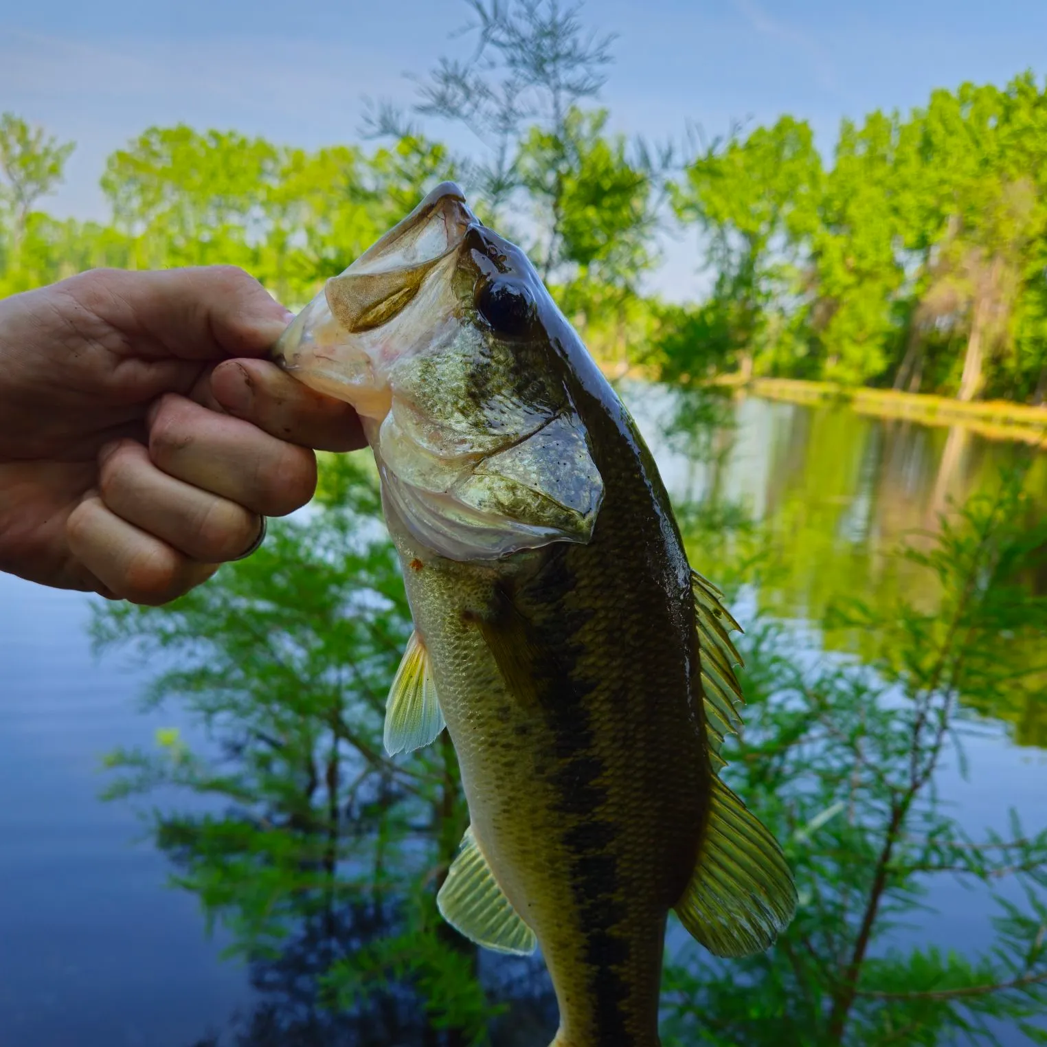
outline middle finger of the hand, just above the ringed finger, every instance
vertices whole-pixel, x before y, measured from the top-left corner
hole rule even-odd
[[[316,489],[311,450],[174,394],[150,411],[149,455],[169,476],[266,516],[299,509]]]

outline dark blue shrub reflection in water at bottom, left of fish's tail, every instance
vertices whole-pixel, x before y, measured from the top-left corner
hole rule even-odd
[[[303,921],[275,957],[257,958],[250,981],[254,1009],[193,1047],[456,1047],[455,1030],[427,1020],[424,1000],[406,980],[383,983],[339,1008],[325,976],[340,961],[401,930],[395,910],[370,900]],[[533,1047],[556,1031],[556,1001],[540,960],[485,954],[481,980],[507,1010],[495,1020],[491,1047]]]

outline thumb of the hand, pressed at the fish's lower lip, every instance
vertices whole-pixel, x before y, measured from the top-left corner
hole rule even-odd
[[[292,314],[236,266],[157,272],[95,269],[59,285],[119,331],[134,356],[183,360],[262,356]]]

